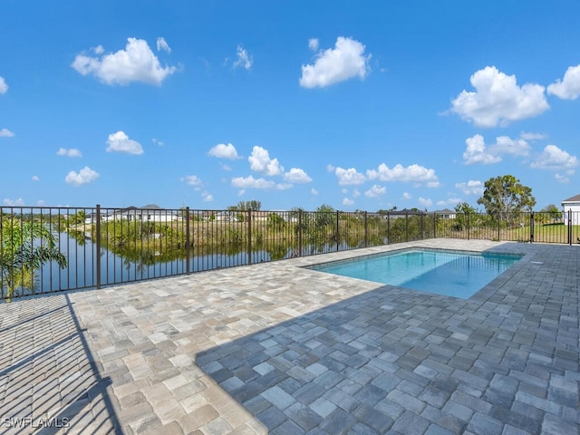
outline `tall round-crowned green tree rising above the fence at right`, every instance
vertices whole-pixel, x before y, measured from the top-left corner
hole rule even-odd
[[[486,208],[489,215],[512,223],[524,209],[531,210],[536,205],[532,189],[524,186],[513,175],[488,179],[483,196],[478,204]]]

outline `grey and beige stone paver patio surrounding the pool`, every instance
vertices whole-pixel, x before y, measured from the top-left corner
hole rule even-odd
[[[469,300],[300,266],[527,255]],[[429,240],[0,304],[0,433],[577,434],[580,247]]]

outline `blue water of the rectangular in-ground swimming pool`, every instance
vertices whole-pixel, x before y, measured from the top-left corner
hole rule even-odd
[[[311,268],[377,283],[469,298],[522,256],[407,250],[364,256]]]

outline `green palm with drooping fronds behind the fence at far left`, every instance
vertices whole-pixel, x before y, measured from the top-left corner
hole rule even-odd
[[[34,274],[44,263],[66,267],[66,258],[48,227],[38,222],[0,218],[0,282],[8,301],[19,288],[34,290]]]

